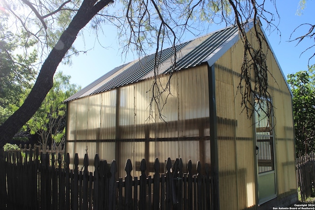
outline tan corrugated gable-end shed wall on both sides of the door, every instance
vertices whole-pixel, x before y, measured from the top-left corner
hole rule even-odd
[[[254,36],[251,38],[255,46]],[[267,45],[263,47],[267,50]],[[221,210],[241,210],[258,203],[253,121],[247,119],[246,111],[242,113],[241,95],[237,92],[243,49],[239,41],[215,65],[217,115],[219,119],[228,119],[227,123],[218,124]],[[297,192],[291,95],[270,50],[267,67],[269,91],[275,107],[277,197],[282,199]]]

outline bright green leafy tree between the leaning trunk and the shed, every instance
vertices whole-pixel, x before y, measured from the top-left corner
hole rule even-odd
[[[31,134],[37,133],[43,152],[50,149],[62,150],[65,140],[65,111],[63,101],[80,88],[70,84],[70,76],[58,72],[54,77],[54,85],[45,97],[40,108],[24,128]]]

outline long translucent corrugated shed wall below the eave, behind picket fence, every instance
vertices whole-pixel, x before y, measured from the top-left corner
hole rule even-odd
[[[68,102],[67,152],[83,158],[88,148],[92,166],[95,153],[108,162],[116,159],[121,177],[127,158],[133,176],[140,175],[142,158],[152,172],[156,157],[162,163],[168,157],[210,163],[207,64],[176,72],[168,87],[167,82],[161,76],[155,87],[153,79],[144,80]],[[152,98],[153,91],[160,97]]]

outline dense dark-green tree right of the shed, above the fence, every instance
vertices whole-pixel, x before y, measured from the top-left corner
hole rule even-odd
[[[315,65],[287,75],[293,93],[296,154],[315,151]]]

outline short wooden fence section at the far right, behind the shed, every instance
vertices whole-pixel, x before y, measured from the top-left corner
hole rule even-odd
[[[301,190],[301,199],[305,201],[312,195],[315,184],[315,153],[300,156],[296,159],[297,181]]]

